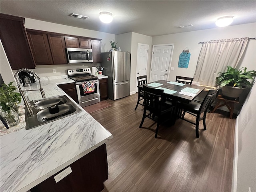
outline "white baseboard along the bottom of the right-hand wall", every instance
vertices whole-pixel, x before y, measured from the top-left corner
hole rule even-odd
[[[236,192],[236,186],[237,186],[238,121],[239,121],[239,115],[236,117],[236,126],[235,126],[234,159],[233,159],[233,175],[232,175],[232,192]]]

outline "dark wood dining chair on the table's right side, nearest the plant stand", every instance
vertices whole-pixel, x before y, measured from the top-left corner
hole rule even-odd
[[[200,120],[203,120],[204,124],[204,130],[206,130],[206,114],[207,109],[211,102],[216,99],[218,89],[209,90],[204,98],[204,100],[200,102],[192,101],[189,104],[178,104],[179,108],[183,110],[183,113],[180,115],[180,118],[182,120],[185,120],[187,122],[190,122],[196,126],[196,137],[199,138],[199,122]],[[188,119],[185,119],[185,113],[189,113],[196,117],[196,122],[192,122]],[[203,114],[203,116],[201,115]]]

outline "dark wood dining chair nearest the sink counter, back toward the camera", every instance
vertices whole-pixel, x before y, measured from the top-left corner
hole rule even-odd
[[[166,104],[164,90],[150,88],[143,85],[144,90],[144,112],[140,123],[140,128],[145,118],[150,118],[157,122],[155,138],[157,138],[160,123],[172,118],[173,105]]]

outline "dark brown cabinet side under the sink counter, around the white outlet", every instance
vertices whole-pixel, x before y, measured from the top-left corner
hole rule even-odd
[[[58,183],[54,176],[32,188],[31,192],[100,192],[108,179],[106,144],[103,144],[70,165],[72,173]],[[66,168],[65,168],[66,169]]]

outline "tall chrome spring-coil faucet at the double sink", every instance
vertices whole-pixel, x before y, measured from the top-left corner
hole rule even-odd
[[[36,76],[36,77],[38,78],[40,89],[22,90],[22,88],[21,88],[21,86],[20,86],[20,78],[19,78],[19,76],[18,76],[18,74],[19,74],[20,72],[31,72],[32,74],[34,74],[34,76]],[[17,70],[17,71],[14,73],[14,79],[15,79],[15,82],[16,82],[16,84],[17,84],[17,86],[18,86],[18,90],[20,91],[20,94],[21,94],[21,96],[22,96],[22,98],[23,98],[23,100],[24,100],[24,104],[25,104],[25,107],[26,107],[26,109],[27,109],[27,111],[28,111],[28,113],[29,113],[29,116],[30,116],[30,117],[31,117],[31,116],[34,116],[35,114],[34,114],[34,111],[32,110],[32,108],[36,107],[36,105],[35,105],[35,104],[34,104],[34,105],[30,105],[30,103],[29,103],[28,99],[26,98],[24,92],[27,92],[27,91],[40,91],[40,92],[41,92],[41,95],[42,95],[42,98],[45,98],[45,93],[44,93],[44,90],[43,90],[43,88],[42,88],[42,86],[41,86],[40,77],[39,77],[38,74],[36,74],[34,71],[32,71],[32,70],[30,70],[30,69],[24,69],[24,68],[22,68],[22,69]]]

